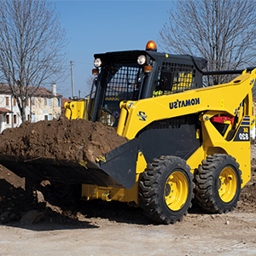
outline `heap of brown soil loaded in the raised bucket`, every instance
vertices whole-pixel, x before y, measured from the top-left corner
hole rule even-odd
[[[84,119],[25,122],[0,135],[0,154],[25,159],[94,161],[102,154],[127,142],[112,127]]]

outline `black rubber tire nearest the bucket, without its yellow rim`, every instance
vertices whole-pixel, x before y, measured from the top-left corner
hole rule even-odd
[[[181,172],[188,184],[186,201],[177,211],[172,211],[165,200],[166,182],[173,172]],[[185,160],[175,156],[161,156],[160,159],[154,159],[143,172],[139,185],[140,207],[143,208],[145,215],[158,224],[174,224],[181,221],[192,206],[191,201],[194,196],[192,178],[190,167]]]

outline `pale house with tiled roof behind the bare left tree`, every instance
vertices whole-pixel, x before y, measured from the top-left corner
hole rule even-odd
[[[39,87],[26,102],[26,120],[37,122],[51,120],[61,115],[61,95],[56,93],[56,84],[52,90]],[[0,132],[6,128],[17,127],[22,123],[16,99],[12,96],[8,84],[0,84]]]

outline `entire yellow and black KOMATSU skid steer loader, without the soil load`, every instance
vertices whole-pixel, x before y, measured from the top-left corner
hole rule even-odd
[[[86,166],[20,166],[66,175],[82,184],[84,200],[127,202],[160,224],[180,221],[194,195],[208,212],[232,211],[250,180],[256,69],[204,73],[207,60],[159,53],[152,41],[145,50],[96,54],[95,67],[90,99],[67,102],[66,115],[112,126],[129,141]],[[203,87],[204,75],[236,73]]]

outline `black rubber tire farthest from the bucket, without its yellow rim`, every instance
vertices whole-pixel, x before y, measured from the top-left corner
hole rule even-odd
[[[236,173],[236,194],[230,201],[223,201],[218,193],[219,176],[224,168],[230,167]],[[202,160],[195,175],[195,199],[207,212],[232,212],[240,200],[241,170],[236,159],[229,154],[212,154]]]

